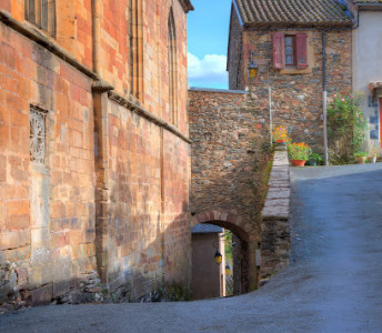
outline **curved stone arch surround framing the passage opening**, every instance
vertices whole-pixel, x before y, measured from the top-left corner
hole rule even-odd
[[[193,215],[192,226],[209,223],[231,230],[241,241],[241,293],[258,287],[259,268],[257,266],[257,250],[259,248],[255,226],[245,222],[240,215],[222,210],[209,210]]]

